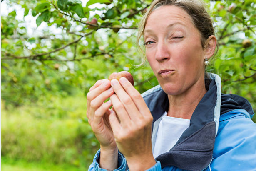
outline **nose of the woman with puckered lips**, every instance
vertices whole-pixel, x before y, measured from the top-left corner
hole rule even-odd
[[[163,62],[170,59],[169,49],[165,42],[157,43],[157,52],[155,54],[155,58],[158,62]]]

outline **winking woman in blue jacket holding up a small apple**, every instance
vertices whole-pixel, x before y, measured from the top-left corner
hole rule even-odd
[[[205,74],[217,41],[204,3],[154,0],[141,37],[159,86],[140,95],[122,77],[91,87],[87,117],[100,150],[89,170],[255,171],[251,105]]]

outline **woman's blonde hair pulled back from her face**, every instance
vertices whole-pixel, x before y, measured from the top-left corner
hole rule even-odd
[[[149,9],[142,17],[139,23],[138,35],[137,35],[137,45],[139,51],[143,53],[142,63],[138,66],[143,65],[146,62],[146,55],[140,46],[140,40],[144,35],[144,29],[149,15],[158,7],[166,6],[166,5],[175,5],[177,7],[185,10],[192,19],[194,26],[199,30],[201,34],[201,44],[203,48],[206,47],[206,40],[211,35],[215,35],[214,26],[211,16],[207,12],[206,4],[203,0],[154,0],[152,4],[149,6]],[[218,51],[215,51],[214,55],[216,55]]]

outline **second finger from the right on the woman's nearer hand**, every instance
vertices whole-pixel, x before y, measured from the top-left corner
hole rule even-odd
[[[113,79],[111,81],[111,87],[114,89],[114,92],[117,94],[118,98],[120,99],[120,101],[124,105],[124,108],[126,109],[130,118],[132,120],[135,120],[138,116],[140,116],[139,111],[138,111],[136,105],[134,104],[134,101],[127,94],[127,92],[123,89],[121,84],[119,84],[119,82],[116,79]]]

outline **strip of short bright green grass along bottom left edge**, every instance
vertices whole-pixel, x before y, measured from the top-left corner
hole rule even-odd
[[[2,171],[86,171],[87,168],[78,168],[68,164],[51,164],[49,162],[27,162],[1,157]]]

